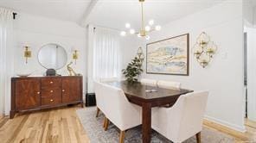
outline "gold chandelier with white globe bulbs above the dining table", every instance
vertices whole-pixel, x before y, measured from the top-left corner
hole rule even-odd
[[[138,37],[144,37],[146,40],[150,40],[149,33],[152,31],[159,31],[161,30],[160,25],[155,25],[154,20],[150,20],[148,22],[148,25],[144,25],[144,0],[138,0],[138,2],[141,4],[141,28],[138,32],[135,31],[134,28],[131,28],[130,23],[125,24],[126,31],[121,31],[120,35],[125,36],[127,34],[137,34]]]

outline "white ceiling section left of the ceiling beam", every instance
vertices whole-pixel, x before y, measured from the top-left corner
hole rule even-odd
[[[65,21],[80,22],[91,0],[0,0],[0,6]]]

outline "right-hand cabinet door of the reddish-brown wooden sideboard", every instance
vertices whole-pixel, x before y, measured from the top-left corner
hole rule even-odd
[[[62,78],[62,103],[80,101],[80,78]]]

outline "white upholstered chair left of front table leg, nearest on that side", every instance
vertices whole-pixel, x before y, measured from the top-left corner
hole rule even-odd
[[[125,130],[137,127],[142,122],[142,109],[138,105],[129,103],[123,90],[103,84],[104,102],[106,108],[105,130],[111,121],[120,129],[119,143],[125,141]]]

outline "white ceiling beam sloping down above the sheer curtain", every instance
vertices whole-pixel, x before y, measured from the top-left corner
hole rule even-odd
[[[99,3],[99,0],[92,0],[91,3],[89,4],[88,8],[86,9],[84,15],[82,16],[80,20],[80,26],[85,27],[89,23],[89,18],[93,13],[93,9],[96,7],[97,3]]]

